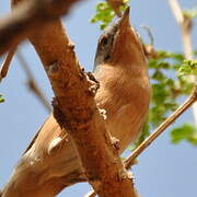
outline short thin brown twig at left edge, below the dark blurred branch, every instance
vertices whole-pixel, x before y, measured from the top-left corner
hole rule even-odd
[[[4,62],[2,63],[1,66],[1,69],[0,69],[0,82],[3,78],[7,77],[7,73],[9,71],[9,68],[10,68],[10,65],[11,65],[11,61],[13,59],[13,56],[15,54],[15,50],[16,50],[16,47],[12,47],[10,49],[10,51],[8,53],[5,59],[4,59]]]

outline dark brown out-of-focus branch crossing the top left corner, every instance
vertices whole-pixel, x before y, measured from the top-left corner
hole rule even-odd
[[[66,14],[78,0],[28,0],[0,21],[0,55],[18,45],[37,27]]]

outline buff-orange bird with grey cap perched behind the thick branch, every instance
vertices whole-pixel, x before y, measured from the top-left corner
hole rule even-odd
[[[95,103],[119,141],[119,154],[139,136],[146,121],[151,85],[141,39],[129,22],[129,9],[101,35],[94,60],[100,89]],[[78,152],[51,114],[16,164],[1,197],[53,197],[86,177]]]

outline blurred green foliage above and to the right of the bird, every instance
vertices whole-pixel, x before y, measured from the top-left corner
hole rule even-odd
[[[128,1],[125,1],[124,5],[119,8],[121,13],[127,8],[127,4]],[[188,20],[193,20],[197,16],[197,10],[185,10],[184,15]],[[100,23],[100,28],[103,30],[115,16],[114,10],[107,2],[99,2],[91,22]],[[195,57],[197,53],[194,51]],[[197,76],[197,61],[186,60],[183,54],[157,50],[153,58],[149,59],[149,70],[152,84],[150,112],[143,131],[135,147],[149,136],[150,130],[155,129],[170,113],[177,108],[179,99],[192,92],[194,81],[189,80],[189,78],[192,74]],[[197,128],[194,125],[184,123],[182,126],[171,130],[170,135],[173,143],[186,140],[197,146]]]

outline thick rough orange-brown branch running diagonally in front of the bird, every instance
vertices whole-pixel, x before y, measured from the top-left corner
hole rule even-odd
[[[86,80],[85,73],[79,67],[73,45],[65,34],[60,21],[55,20],[38,33],[31,35],[30,39],[43,61],[56,95],[54,115],[63,128],[61,136],[67,136],[65,130],[71,136],[89,183],[101,197],[135,197],[132,179],[125,172],[118,151],[113,147],[94,103],[92,82]],[[28,150],[25,154],[27,153]],[[68,155],[58,155],[59,160],[62,157]],[[46,178],[46,175],[43,178]],[[39,179],[39,183],[42,182],[44,181]],[[57,179],[54,184],[56,190],[53,190],[53,194],[57,194],[58,189],[62,189],[62,177],[60,186],[57,186]],[[40,185],[39,187],[43,189]],[[43,196],[46,196],[45,193]]]

